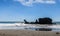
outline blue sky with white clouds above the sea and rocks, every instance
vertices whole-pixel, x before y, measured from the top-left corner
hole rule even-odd
[[[60,0],[0,0],[0,21],[60,21]]]

